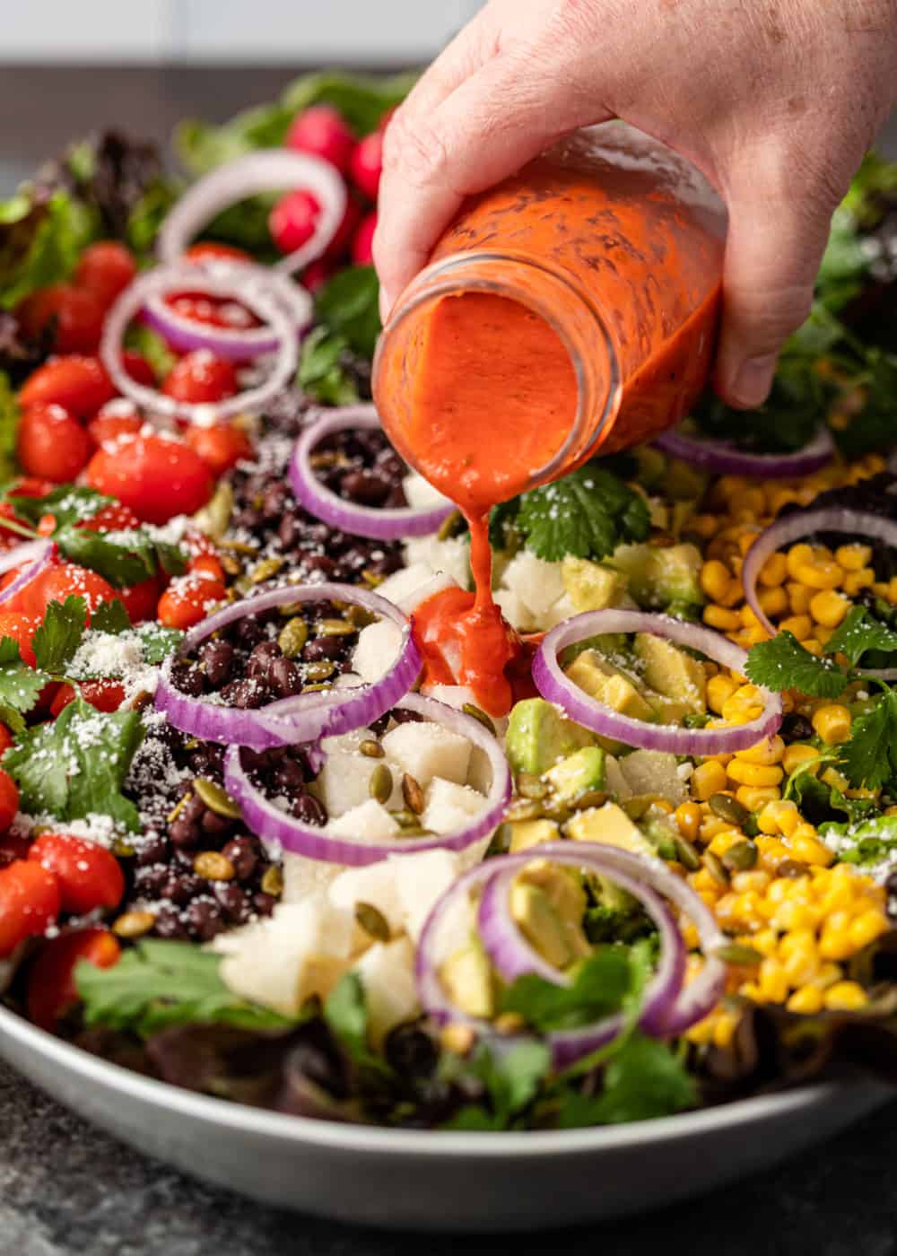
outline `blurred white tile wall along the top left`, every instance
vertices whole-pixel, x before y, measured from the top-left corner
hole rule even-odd
[[[525,0],[520,0],[525,3]],[[26,0],[0,60],[152,64],[426,58],[481,0]]]

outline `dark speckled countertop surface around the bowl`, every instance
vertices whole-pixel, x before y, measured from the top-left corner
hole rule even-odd
[[[0,196],[73,136],[109,123],[165,138],[226,118],[296,68],[35,69],[0,65]],[[897,154],[897,121],[888,128]],[[0,1256],[892,1256],[897,1102],[774,1173],[590,1230],[501,1238],[393,1235],[261,1207],[107,1138],[0,1065]]]

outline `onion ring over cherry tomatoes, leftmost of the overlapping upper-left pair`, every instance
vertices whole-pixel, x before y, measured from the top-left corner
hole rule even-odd
[[[131,378],[122,359],[122,342],[128,324],[152,296],[187,286],[219,296],[236,295],[274,330],[278,337],[278,357],[261,384],[224,401],[197,404],[166,397],[156,388],[147,388]],[[285,313],[278,296],[281,286],[264,268],[250,266],[247,263],[241,264],[239,270],[234,266],[227,271],[220,268],[212,270],[201,263],[157,266],[129,284],[107,314],[99,344],[101,360],[122,396],[129,397],[148,412],[211,425],[244,411],[259,411],[293,378],[298,363],[293,318]]]

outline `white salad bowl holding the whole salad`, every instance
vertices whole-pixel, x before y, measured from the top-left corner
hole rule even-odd
[[[825,1083],[628,1125],[448,1133],[310,1120],[180,1090],[6,1009],[0,1056],[108,1133],[206,1182],[340,1221],[437,1231],[648,1211],[768,1168],[893,1094]]]

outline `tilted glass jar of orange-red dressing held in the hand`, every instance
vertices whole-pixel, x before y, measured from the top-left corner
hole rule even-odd
[[[469,515],[650,440],[704,387],[726,215],[623,123],[471,197],[383,330],[373,391],[400,453]]]

